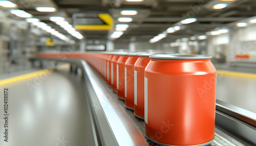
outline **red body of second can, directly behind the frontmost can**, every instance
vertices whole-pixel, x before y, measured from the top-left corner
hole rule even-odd
[[[134,114],[144,119],[144,74],[149,57],[139,57],[134,64]]]

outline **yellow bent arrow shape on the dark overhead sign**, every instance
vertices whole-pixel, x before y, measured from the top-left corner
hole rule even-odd
[[[95,30],[95,31],[104,31],[111,30],[113,26],[113,19],[109,14],[98,14],[98,17],[105,22],[105,25],[76,25],[75,29],[77,30]]]

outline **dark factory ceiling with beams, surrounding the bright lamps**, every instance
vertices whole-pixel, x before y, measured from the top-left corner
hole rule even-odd
[[[129,0],[127,0],[129,1]],[[35,18],[55,24],[49,20],[50,16],[65,17],[72,25],[85,24],[105,25],[96,18],[99,13],[108,13],[113,17],[112,30],[82,30],[88,39],[108,39],[115,31],[115,25],[128,24],[129,28],[116,41],[148,41],[154,36],[166,31],[170,27],[180,26],[179,31],[168,33],[166,39],[202,35],[217,27],[224,27],[227,23],[253,17],[256,15],[255,0],[144,0],[141,2],[127,2],[124,0],[23,0],[11,1],[20,9],[32,14]],[[131,1],[131,0],[130,0]],[[137,0],[138,1],[138,0]],[[214,7],[226,4],[224,8]],[[56,12],[38,12],[35,7],[54,7]],[[135,10],[136,15],[122,15],[122,10]],[[84,14],[84,19],[74,19],[77,14]],[[119,22],[119,17],[131,17],[131,22]],[[186,18],[197,18],[189,24],[181,24]],[[75,22],[77,21],[77,22]],[[65,32],[63,32],[65,34]]]

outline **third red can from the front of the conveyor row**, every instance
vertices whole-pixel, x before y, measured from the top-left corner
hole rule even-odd
[[[134,64],[138,58],[138,54],[129,54],[124,64],[125,107],[130,110],[134,110]]]

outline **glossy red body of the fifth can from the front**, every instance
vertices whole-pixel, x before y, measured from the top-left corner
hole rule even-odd
[[[114,91],[117,91],[117,88],[116,88],[116,62],[119,57],[120,57],[120,55],[114,55],[111,60],[111,85],[112,85],[112,89]]]

